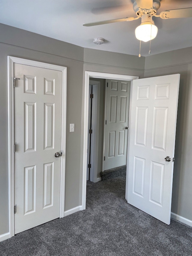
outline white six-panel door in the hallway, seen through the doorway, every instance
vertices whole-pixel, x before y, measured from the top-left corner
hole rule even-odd
[[[104,170],[127,162],[130,81],[107,80]]]

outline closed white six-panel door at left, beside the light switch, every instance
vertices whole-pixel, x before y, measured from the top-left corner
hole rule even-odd
[[[59,217],[62,72],[14,64],[15,233]]]

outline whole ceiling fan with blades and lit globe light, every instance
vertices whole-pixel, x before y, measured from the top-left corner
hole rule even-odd
[[[162,11],[159,15],[157,14],[160,8],[160,0],[134,0],[133,9],[137,17],[126,17],[114,20],[104,20],[92,23],[85,23],[83,26],[96,26],[108,23],[122,22],[122,21],[132,21],[141,18],[141,25],[135,29],[136,38],[140,41],[150,41],[154,39],[157,35],[158,28],[155,26],[152,17],[160,17],[161,19],[173,19],[173,18],[185,18],[192,17],[192,7],[166,10]]]

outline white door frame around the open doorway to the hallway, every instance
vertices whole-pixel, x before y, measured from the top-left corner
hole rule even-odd
[[[138,76],[119,74],[108,74],[101,72],[85,71],[85,102],[84,102],[84,134],[83,134],[83,175],[82,175],[82,210],[86,208],[86,182],[87,182],[87,131],[88,131],[88,100],[89,100],[89,78],[104,78],[129,80],[138,79]]]

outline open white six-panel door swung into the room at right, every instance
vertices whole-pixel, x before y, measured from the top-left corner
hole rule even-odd
[[[131,86],[126,199],[170,224],[180,74]],[[170,161],[165,161],[166,157]]]

